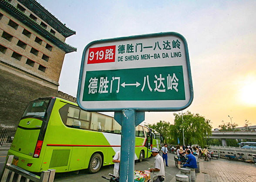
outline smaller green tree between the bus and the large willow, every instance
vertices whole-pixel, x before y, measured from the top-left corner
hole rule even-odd
[[[163,140],[165,140],[165,143],[171,143],[171,124],[169,122],[166,121],[159,121],[158,123],[154,123],[154,124],[147,124],[145,125],[149,128],[152,128],[154,130],[156,130],[157,132],[159,132],[161,134],[161,136],[163,137]]]

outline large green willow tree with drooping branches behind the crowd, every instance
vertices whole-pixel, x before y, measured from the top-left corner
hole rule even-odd
[[[212,133],[210,120],[199,114],[192,114],[189,111],[183,114],[183,121],[181,113],[174,113],[174,116],[175,119],[174,125],[171,127],[171,134],[175,143],[178,143],[178,137],[182,143],[182,131],[184,129],[185,145],[196,143],[204,146],[206,144],[205,137]]]

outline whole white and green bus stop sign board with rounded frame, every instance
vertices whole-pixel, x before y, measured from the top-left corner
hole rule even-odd
[[[192,103],[188,46],[179,33],[104,39],[83,52],[77,103],[88,111],[175,111]]]

